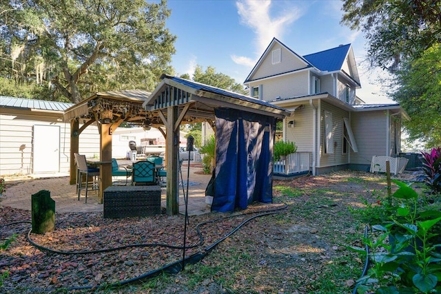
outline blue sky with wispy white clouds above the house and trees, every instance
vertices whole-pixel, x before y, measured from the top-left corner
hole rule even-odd
[[[167,6],[178,76],[212,66],[243,83],[274,37],[302,56],[351,43],[362,86],[357,96],[393,103],[382,94],[382,71],[367,66],[363,33],[340,24],[340,0],[168,0]]]

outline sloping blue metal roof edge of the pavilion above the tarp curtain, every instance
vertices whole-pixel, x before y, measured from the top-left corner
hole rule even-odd
[[[247,101],[247,102],[256,103],[256,104],[264,105],[264,106],[267,106],[267,107],[271,107],[271,108],[274,108],[274,109],[279,109],[279,110],[287,111],[285,108],[278,107],[277,105],[274,105],[274,104],[271,104],[271,103],[267,103],[266,101],[258,100],[256,98],[251,97],[251,96],[246,96],[246,95],[238,94],[236,92],[230,92],[230,91],[227,91],[227,90],[220,89],[218,87],[212,87],[212,86],[209,86],[209,85],[205,85],[205,84],[201,84],[201,83],[196,83],[194,81],[186,80],[185,78],[178,78],[177,76],[167,76],[166,74],[163,74],[163,76],[161,76],[161,78],[170,78],[170,80],[175,81],[176,83],[181,83],[182,85],[186,85],[187,87],[191,87],[194,90],[201,90],[201,91],[206,91],[206,92],[212,92],[214,94],[223,95],[223,96],[227,96],[227,97],[232,97],[232,98],[240,99],[242,101]]]

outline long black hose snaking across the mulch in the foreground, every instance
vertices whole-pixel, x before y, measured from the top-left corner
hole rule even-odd
[[[232,229],[232,231],[230,231],[229,233],[227,233],[227,235],[223,236],[222,238],[220,238],[219,240],[216,240],[216,242],[209,244],[209,246],[205,247],[205,249],[203,249],[201,252],[198,253],[194,253],[193,255],[188,256],[187,258],[185,258],[185,260],[178,260],[176,262],[172,262],[170,264],[166,264],[165,266],[162,266],[159,269],[154,269],[153,271],[144,273],[143,275],[139,275],[137,277],[132,277],[130,279],[127,280],[122,280],[119,282],[114,282],[112,284],[99,284],[99,285],[94,285],[94,286],[76,286],[76,287],[70,287],[70,288],[65,288],[65,290],[67,291],[74,291],[74,290],[88,290],[88,289],[99,289],[99,288],[109,288],[109,287],[115,287],[115,286],[123,286],[126,284],[132,284],[134,282],[141,282],[142,280],[145,279],[149,279],[151,277],[155,277],[161,273],[178,273],[179,271],[181,271],[183,269],[183,264],[196,264],[197,262],[201,261],[203,258],[205,258],[205,256],[212,251],[218,244],[220,244],[220,242],[223,242],[224,240],[226,240],[227,238],[229,238],[229,236],[233,235],[234,233],[236,233],[236,231],[238,231],[238,229],[240,229],[241,227],[243,227],[244,224],[246,224],[247,222],[254,220],[255,218],[260,218],[263,216],[270,216],[273,214],[277,214],[277,213],[281,213],[284,209],[286,209],[288,206],[287,204],[285,204],[285,206],[283,207],[278,207],[276,209],[270,209],[268,211],[254,211],[254,212],[249,212],[249,213],[239,213],[236,214],[234,216],[225,216],[223,218],[217,218],[214,220],[207,220],[206,222],[201,222],[199,224],[196,225],[196,232],[199,235],[199,242],[197,244],[191,245],[191,246],[186,246],[185,248],[189,249],[189,248],[194,248],[197,246],[201,246],[203,244],[203,235],[201,233],[201,230],[199,229],[201,226],[205,225],[205,224],[210,224],[210,223],[214,223],[214,222],[219,222],[221,220],[226,220],[228,218],[235,218],[238,216],[247,216],[249,214],[253,214],[253,213],[258,213],[255,216],[251,216],[249,218],[247,218],[246,220],[244,220],[243,222],[241,222],[236,228]],[[8,224],[2,224],[0,225],[0,227],[6,227],[12,224],[20,224],[20,223],[31,223],[29,220],[22,220],[22,221],[18,221],[18,222],[10,222]],[[32,246],[35,246],[37,249],[41,250],[41,251],[46,251],[46,252],[50,252],[50,253],[57,253],[57,254],[63,254],[63,255],[74,255],[74,254],[91,254],[91,253],[103,253],[103,252],[110,252],[110,251],[118,251],[118,250],[122,250],[122,249],[127,249],[130,247],[147,247],[147,246],[163,246],[163,247],[167,247],[170,249],[183,249],[183,246],[174,246],[174,245],[169,245],[169,244],[161,244],[161,243],[147,243],[147,244],[128,244],[125,246],[118,246],[118,247],[114,247],[114,248],[109,248],[109,249],[99,249],[99,250],[94,250],[94,251],[58,251],[58,250],[54,250],[54,249],[50,249],[48,247],[45,246],[41,246],[37,243],[35,243],[34,241],[32,241],[32,239],[30,238],[30,233],[31,233],[32,229],[30,229],[30,231],[28,232],[27,235],[27,239],[28,242],[30,242],[30,244],[32,244]],[[61,290],[60,288],[32,288],[32,290],[34,291],[38,291],[38,292],[51,292],[51,291],[59,291]]]

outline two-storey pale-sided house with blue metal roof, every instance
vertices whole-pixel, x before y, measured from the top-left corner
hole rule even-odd
[[[283,140],[309,152],[312,174],[369,171],[372,156],[400,152],[398,104],[368,105],[350,44],[300,56],[274,38],[245,80],[249,95],[291,111]]]

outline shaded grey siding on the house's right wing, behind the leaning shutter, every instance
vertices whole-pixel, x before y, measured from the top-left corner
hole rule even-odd
[[[384,111],[353,112],[351,127],[358,153],[351,151],[351,163],[370,165],[372,156],[388,156],[386,153],[386,116]]]

